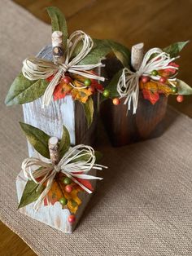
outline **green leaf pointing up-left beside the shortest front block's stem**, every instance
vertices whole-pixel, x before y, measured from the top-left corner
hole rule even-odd
[[[20,122],[20,126],[24,131],[29,143],[33,145],[35,150],[37,150],[41,156],[50,159],[50,152],[48,148],[50,136],[46,135],[44,131],[23,122]]]

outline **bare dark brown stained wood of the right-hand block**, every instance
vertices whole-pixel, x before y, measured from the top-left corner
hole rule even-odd
[[[159,95],[155,105],[143,98],[140,91],[138,97],[137,113],[133,115],[133,108],[128,111],[127,104],[121,99],[115,106],[111,99],[101,104],[101,117],[107,134],[114,147],[120,147],[129,143],[135,143],[145,139],[153,139],[163,135],[164,115],[167,109],[168,98]]]

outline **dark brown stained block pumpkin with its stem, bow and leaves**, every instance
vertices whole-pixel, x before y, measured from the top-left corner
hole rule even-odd
[[[174,60],[186,43],[154,48],[144,57],[143,44],[133,46],[127,67],[114,58],[105,60],[109,82],[105,82],[100,113],[113,146],[162,135],[168,95],[177,95],[181,102],[183,95],[192,94],[190,86],[175,78]]]

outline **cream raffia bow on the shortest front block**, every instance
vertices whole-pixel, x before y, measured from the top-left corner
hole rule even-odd
[[[87,157],[87,160],[81,160],[81,157],[85,156]],[[91,169],[103,170],[103,168],[107,168],[107,166],[95,164],[95,160],[96,157],[94,156],[94,149],[83,144],[70,148],[57,165],[41,161],[41,159],[35,157],[24,159],[21,167],[24,171],[25,178],[32,179],[35,183],[37,183],[37,190],[41,188],[43,183],[46,182],[46,188],[43,190],[41,196],[38,197],[37,201],[33,205],[34,210],[39,209],[41,202],[50,191],[50,188],[55,179],[55,175],[59,172],[62,172],[68,178],[72,179],[73,182],[77,183],[86,192],[92,193],[89,188],[86,188],[76,178],[103,179],[88,174],[89,170]],[[39,179],[41,179],[41,181],[39,181]]]

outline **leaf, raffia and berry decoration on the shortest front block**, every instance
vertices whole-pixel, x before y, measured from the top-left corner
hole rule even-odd
[[[40,153],[40,157],[28,157],[22,163],[22,170],[28,183],[19,208],[35,201],[33,208],[38,210],[42,201],[45,204],[53,203],[53,195],[55,195],[56,201],[68,207],[72,213],[76,213],[78,205],[81,204],[77,193],[81,190],[92,193],[93,188],[89,180],[103,179],[90,175],[89,171],[103,170],[107,166],[96,164],[98,152],[94,152],[90,146],[81,144],[71,148],[68,130],[64,126],[60,141],[56,137],[50,138],[33,126],[21,123],[21,127],[29,142]],[[49,159],[43,158],[48,155]],[[33,187],[32,193],[28,193],[28,186],[30,189]],[[52,190],[53,194],[51,194]]]

